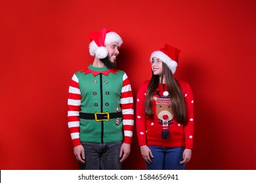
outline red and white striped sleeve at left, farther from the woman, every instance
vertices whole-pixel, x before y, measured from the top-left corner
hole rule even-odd
[[[79,90],[79,80],[74,74],[68,90],[68,128],[73,146],[81,144],[79,139],[79,111],[81,110],[81,93]]]

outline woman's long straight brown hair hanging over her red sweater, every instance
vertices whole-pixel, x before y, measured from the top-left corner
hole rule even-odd
[[[167,67],[165,63],[162,62],[162,64],[163,73],[161,76],[161,83],[163,83],[163,77],[165,77],[167,90],[171,99],[171,108],[173,110],[173,115],[178,122],[183,123],[186,118],[186,105],[181,88],[177,80],[173,77],[173,73],[171,73],[171,70]],[[152,77],[150,79],[150,83],[148,84],[148,90],[146,92],[146,101],[144,103],[144,112],[149,118],[153,118],[154,116],[152,111],[152,99],[154,92],[156,92],[156,89],[158,88],[159,82],[160,76],[156,76],[152,72]]]

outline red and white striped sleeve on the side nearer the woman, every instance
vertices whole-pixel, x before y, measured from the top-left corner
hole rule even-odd
[[[123,75],[123,87],[121,89],[121,110],[123,113],[123,142],[131,144],[134,125],[133,93],[131,91],[129,78],[126,74]]]

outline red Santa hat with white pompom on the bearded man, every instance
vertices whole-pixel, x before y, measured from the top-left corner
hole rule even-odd
[[[108,56],[108,50],[105,46],[110,45],[112,42],[117,42],[118,46],[123,43],[121,37],[110,29],[102,29],[102,31],[96,31],[89,33],[89,52],[91,56],[97,58],[106,58]]]

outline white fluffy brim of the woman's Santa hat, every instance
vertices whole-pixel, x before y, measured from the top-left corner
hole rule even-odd
[[[151,63],[152,63],[152,59],[154,57],[161,59],[161,61],[163,61],[163,63],[165,63],[167,65],[167,67],[169,67],[169,69],[171,69],[171,73],[173,73],[173,74],[175,73],[176,67],[178,65],[176,61],[169,58],[169,56],[165,55],[161,51],[155,51],[151,54],[151,56],[150,56],[150,62]]]

